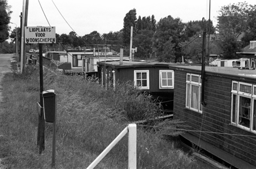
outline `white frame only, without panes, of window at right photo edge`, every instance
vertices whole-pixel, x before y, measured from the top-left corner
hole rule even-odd
[[[233,89],[233,85],[235,83],[237,84],[237,90]],[[251,86],[251,93],[240,91],[241,84],[244,84],[246,86]],[[254,115],[253,112],[255,111],[254,107],[256,106],[256,105],[254,105],[254,104],[256,104],[256,93],[254,94],[255,90],[256,90],[256,84],[232,81],[232,90],[231,90],[231,93],[232,93],[232,95],[231,95],[231,97],[232,97],[231,98],[231,125],[237,126],[239,128],[242,128],[243,130],[254,132],[254,133],[256,133],[256,130],[253,130],[253,123],[256,122],[256,120],[254,121],[254,117],[253,117],[253,115]],[[235,101],[233,100],[233,95],[236,95],[236,100]],[[245,98],[250,99],[250,103],[249,103],[250,104],[249,105],[250,106],[250,112],[249,112],[249,114],[250,114],[250,118],[249,118],[250,124],[249,124],[249,127],[246,127],[246,126],[243,126],[242,124],[239,124],[240,123],[240,105],[241,105],[240,98],[241,97],[245,97]],[[233,111],[234,111],[233,110],[233,108],[234,108],[233,103],[234,102],[236,104],[235,105],[235,115],[236,115],[236,117],[235,117],[235,122],[232,122]]]

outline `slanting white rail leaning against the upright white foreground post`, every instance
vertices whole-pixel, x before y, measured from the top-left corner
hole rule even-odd
[[[124,130],[115,138],[115,140],[110,143],[109,146],[101,153],[99,156],[94,159],[94,161],[90,164],[90,166],[87,167],[87,169],[92,169],[94,168],[101,160],[104,158],[107,153],[110,152],[110,150],[127,134],[128,132],[128,127],[125,127]]]

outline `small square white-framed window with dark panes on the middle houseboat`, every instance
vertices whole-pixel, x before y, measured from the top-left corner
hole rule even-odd
[[[149,89],[149,70],[134,70],[134,86]]]

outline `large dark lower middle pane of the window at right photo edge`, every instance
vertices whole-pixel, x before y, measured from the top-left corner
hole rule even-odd
[[[240,96],[239,124],[250,128],[251,99]]]

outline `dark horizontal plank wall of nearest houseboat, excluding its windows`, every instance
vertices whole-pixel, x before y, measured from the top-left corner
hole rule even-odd
[[[256,135],[230,124],[232,81],[248,82],[248,80],[217,73],[206,73],[205,100],[207,104],[203,108],[203,114],[200,114],[185,108],[186,73],[201,74],[201,71],[175,70],[173,118],[179,118],[189,124],[191,127],[186,128],[188,130],[200,131],[202,126],[202,140],[256,166],[256,139],[249,137]],[[220,132],[225,135],[203,131]],[[190,132],[190,134],[199,137],[200,132]]]

